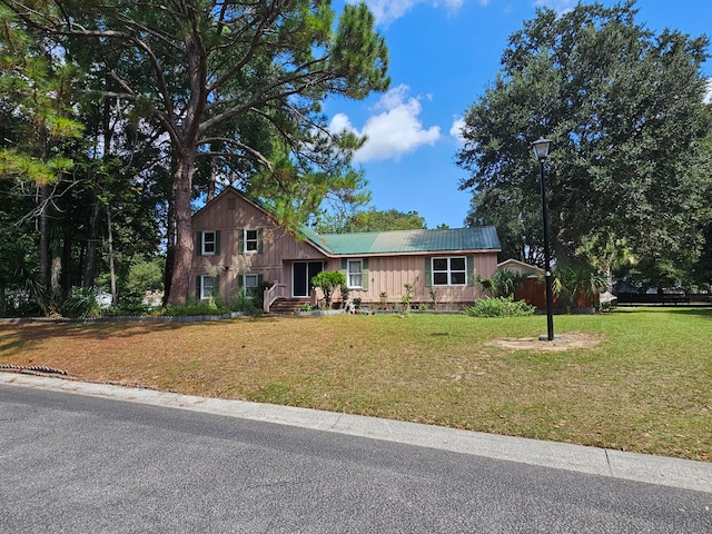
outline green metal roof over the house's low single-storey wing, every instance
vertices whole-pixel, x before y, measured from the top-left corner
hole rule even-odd
[[[498,250],[501,248],[500,238],[492,226],[324,235],[310,228],[304,228],[303,234],[314,245],[334,256]]]

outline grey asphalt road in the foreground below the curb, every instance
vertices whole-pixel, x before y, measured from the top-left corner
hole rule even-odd
[[[0,532],[709,534],[712,488],[0,383]]]

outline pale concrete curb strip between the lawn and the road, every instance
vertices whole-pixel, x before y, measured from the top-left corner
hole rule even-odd
[[[540,442],[316,409],[0,373],[0,384],[336,432],[488,458],[712,493],[712,463]]]

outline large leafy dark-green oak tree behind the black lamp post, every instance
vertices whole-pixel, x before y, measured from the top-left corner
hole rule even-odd
[[[554,141],[546,180],[558,263],[593,236],[624,240],[639,257],[700,249],[705,174],[694,167],[710,131],[701,72],[708,39],[653,32],[636,12],[633,1],[537,10],[466,111],[457,162],[469,172],[461,187],[475,197],[469,217],[512,218],[516,228],[505,236],[518,243],[505,248],[513,254],[543,243],[541,233],[527,234],[541,225],[531,151],[541,136]]]

